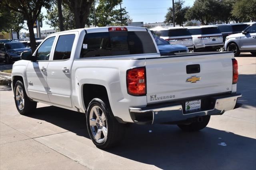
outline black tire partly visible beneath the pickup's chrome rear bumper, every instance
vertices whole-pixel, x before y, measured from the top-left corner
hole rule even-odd
[[[183,131],[199,131],[201,129],[204,129],[208,125],[210,117],[210,115],[206,115],[202,117],[202,121],[200,122],[192,122],[189,125],[178,125],[178,127],[180,127],[180,129],[182,129]]]

